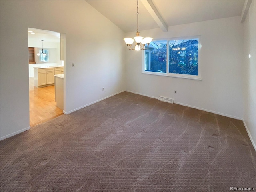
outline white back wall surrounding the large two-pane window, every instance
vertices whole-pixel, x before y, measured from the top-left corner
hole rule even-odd
[[[154,39],[201,35],[202,81],[142,74],[141,52],[126,51],[126,89],[233,118],[243,117],[242,48],[240,17],[224,18],[140,31]],[[135,32],[127,33],[135,36]],[[177,94],[174,94],[177,90]]]

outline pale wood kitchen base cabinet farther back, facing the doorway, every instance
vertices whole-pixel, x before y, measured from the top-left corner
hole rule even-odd
[[[54,68],[34,68],[34,86],[45,87],[54,85]]]

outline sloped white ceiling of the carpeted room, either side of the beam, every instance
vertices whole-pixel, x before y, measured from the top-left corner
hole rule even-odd
[[[137,0],[86,0],[124,32],[137,29]],[[240,16],[244,0],[152,0],[167,26]],[[139,0],[139,30],[159,28]]]

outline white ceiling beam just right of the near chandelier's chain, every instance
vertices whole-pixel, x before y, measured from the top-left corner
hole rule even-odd
[[[156,21],[158,26],[162,29],[163,32],[168,31],[168,26],[164,22],[162,16],[154,6],[153,2],[151,0],[141,0],[142,4],[146,7],[150,15],[153,17],[153,19]]]

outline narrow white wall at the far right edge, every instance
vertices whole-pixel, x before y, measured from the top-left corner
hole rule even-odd
[[[251,58],[249,58],[249,54]],[[256,150],[256,2],[244,22],[244,122]]]

